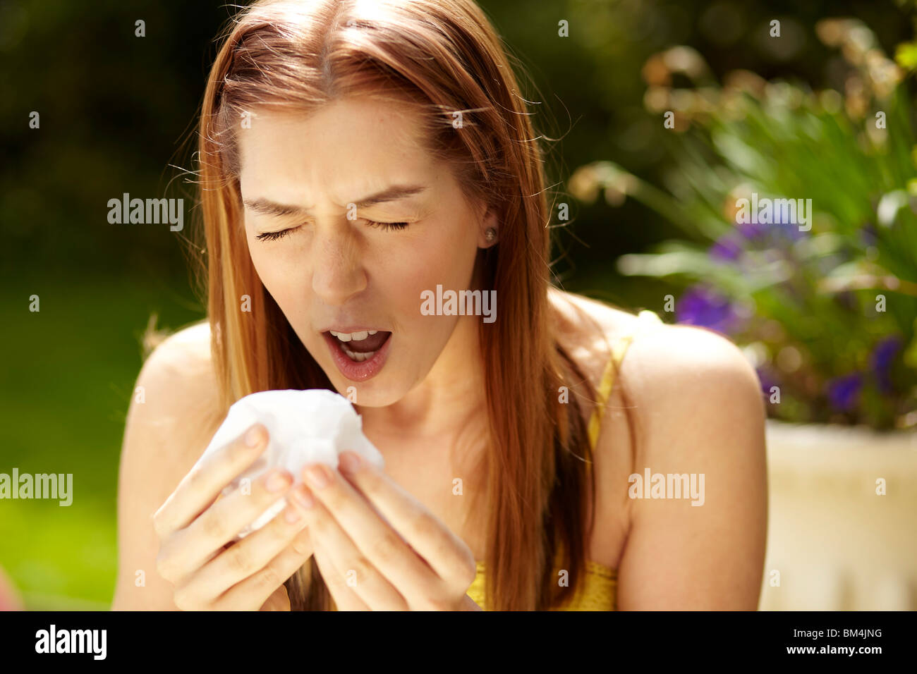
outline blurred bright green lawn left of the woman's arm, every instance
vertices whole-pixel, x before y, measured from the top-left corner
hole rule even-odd
[[[138,338],[151,313],[173,327],[203,315],[180,281],[42,276],[6,284],[0,472],[73,476],[70,506],[0,501],[0,566],[29,610],[110,605],[118,460],[141,364]],[[39,312],[28,310],[32,294]]]

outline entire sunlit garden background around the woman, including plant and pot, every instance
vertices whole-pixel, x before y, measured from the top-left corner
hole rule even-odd
[[[755,364],[771,419],[801,425],[802,436],[768,447],[762,607],[914,607],[912,4],[481,6],[531,75],[524,94],[539,102],[536,128],[558,138],[546,146],[548,182],[571,214],[555,223],[559,282],[724,333]],[[200,223],[183,170],[192,167],[214,36],[232,11],[206,2],[0,4],[0,472],[74,481],[69,507],[0,501],[6,606],[111,601],[118,457],[139,337],[151,316],[174,329],[204,315],[186,260]],[[569,37],[558,35],[560,21]],[[109,224],[107,202],[123,193],[185,198],[184,229]],[[752,193],[812,199],[812,228],[737,222],[737,200]],[[32,295],[38,312],[29,311]],[[820,435],[828,424],[867,435],[831,436],[829,446],[849,446],[832,454]],[[884,501],[877,479],[887,481]],[[839,512],[832,499],[850,509],[848,540],[871,532],[856,553],[866,557],[790,525],[836,529],[824,514]],[[816,504],[829,510],[800,517]],[[813,558],[816,546],[834,560]],[[811,578],[828,580],[788,573],[805,567],[799,559],[810,559]]]

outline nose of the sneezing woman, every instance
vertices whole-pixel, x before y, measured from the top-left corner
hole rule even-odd
[[[345,304],[366,289],[359,241],[346,225],[318,229],[311,260],[312,290],[326,304]]]

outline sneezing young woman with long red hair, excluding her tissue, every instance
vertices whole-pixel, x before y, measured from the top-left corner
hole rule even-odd
[[[711,331],[551,286],[528,115],[472,0],[238,17],[200,126],[208,320],[138,378],[113,608],[756,608],[756,374]],[[461,291],[481,302],[425,301]],[[267,441],[192,470],[229,405],[290,388],[347,395],[385,470],[217,498]]]

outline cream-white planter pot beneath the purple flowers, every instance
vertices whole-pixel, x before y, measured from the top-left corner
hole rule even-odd
[[[917,432],[768,419],[766,433],[758,608],[917,609]]]

